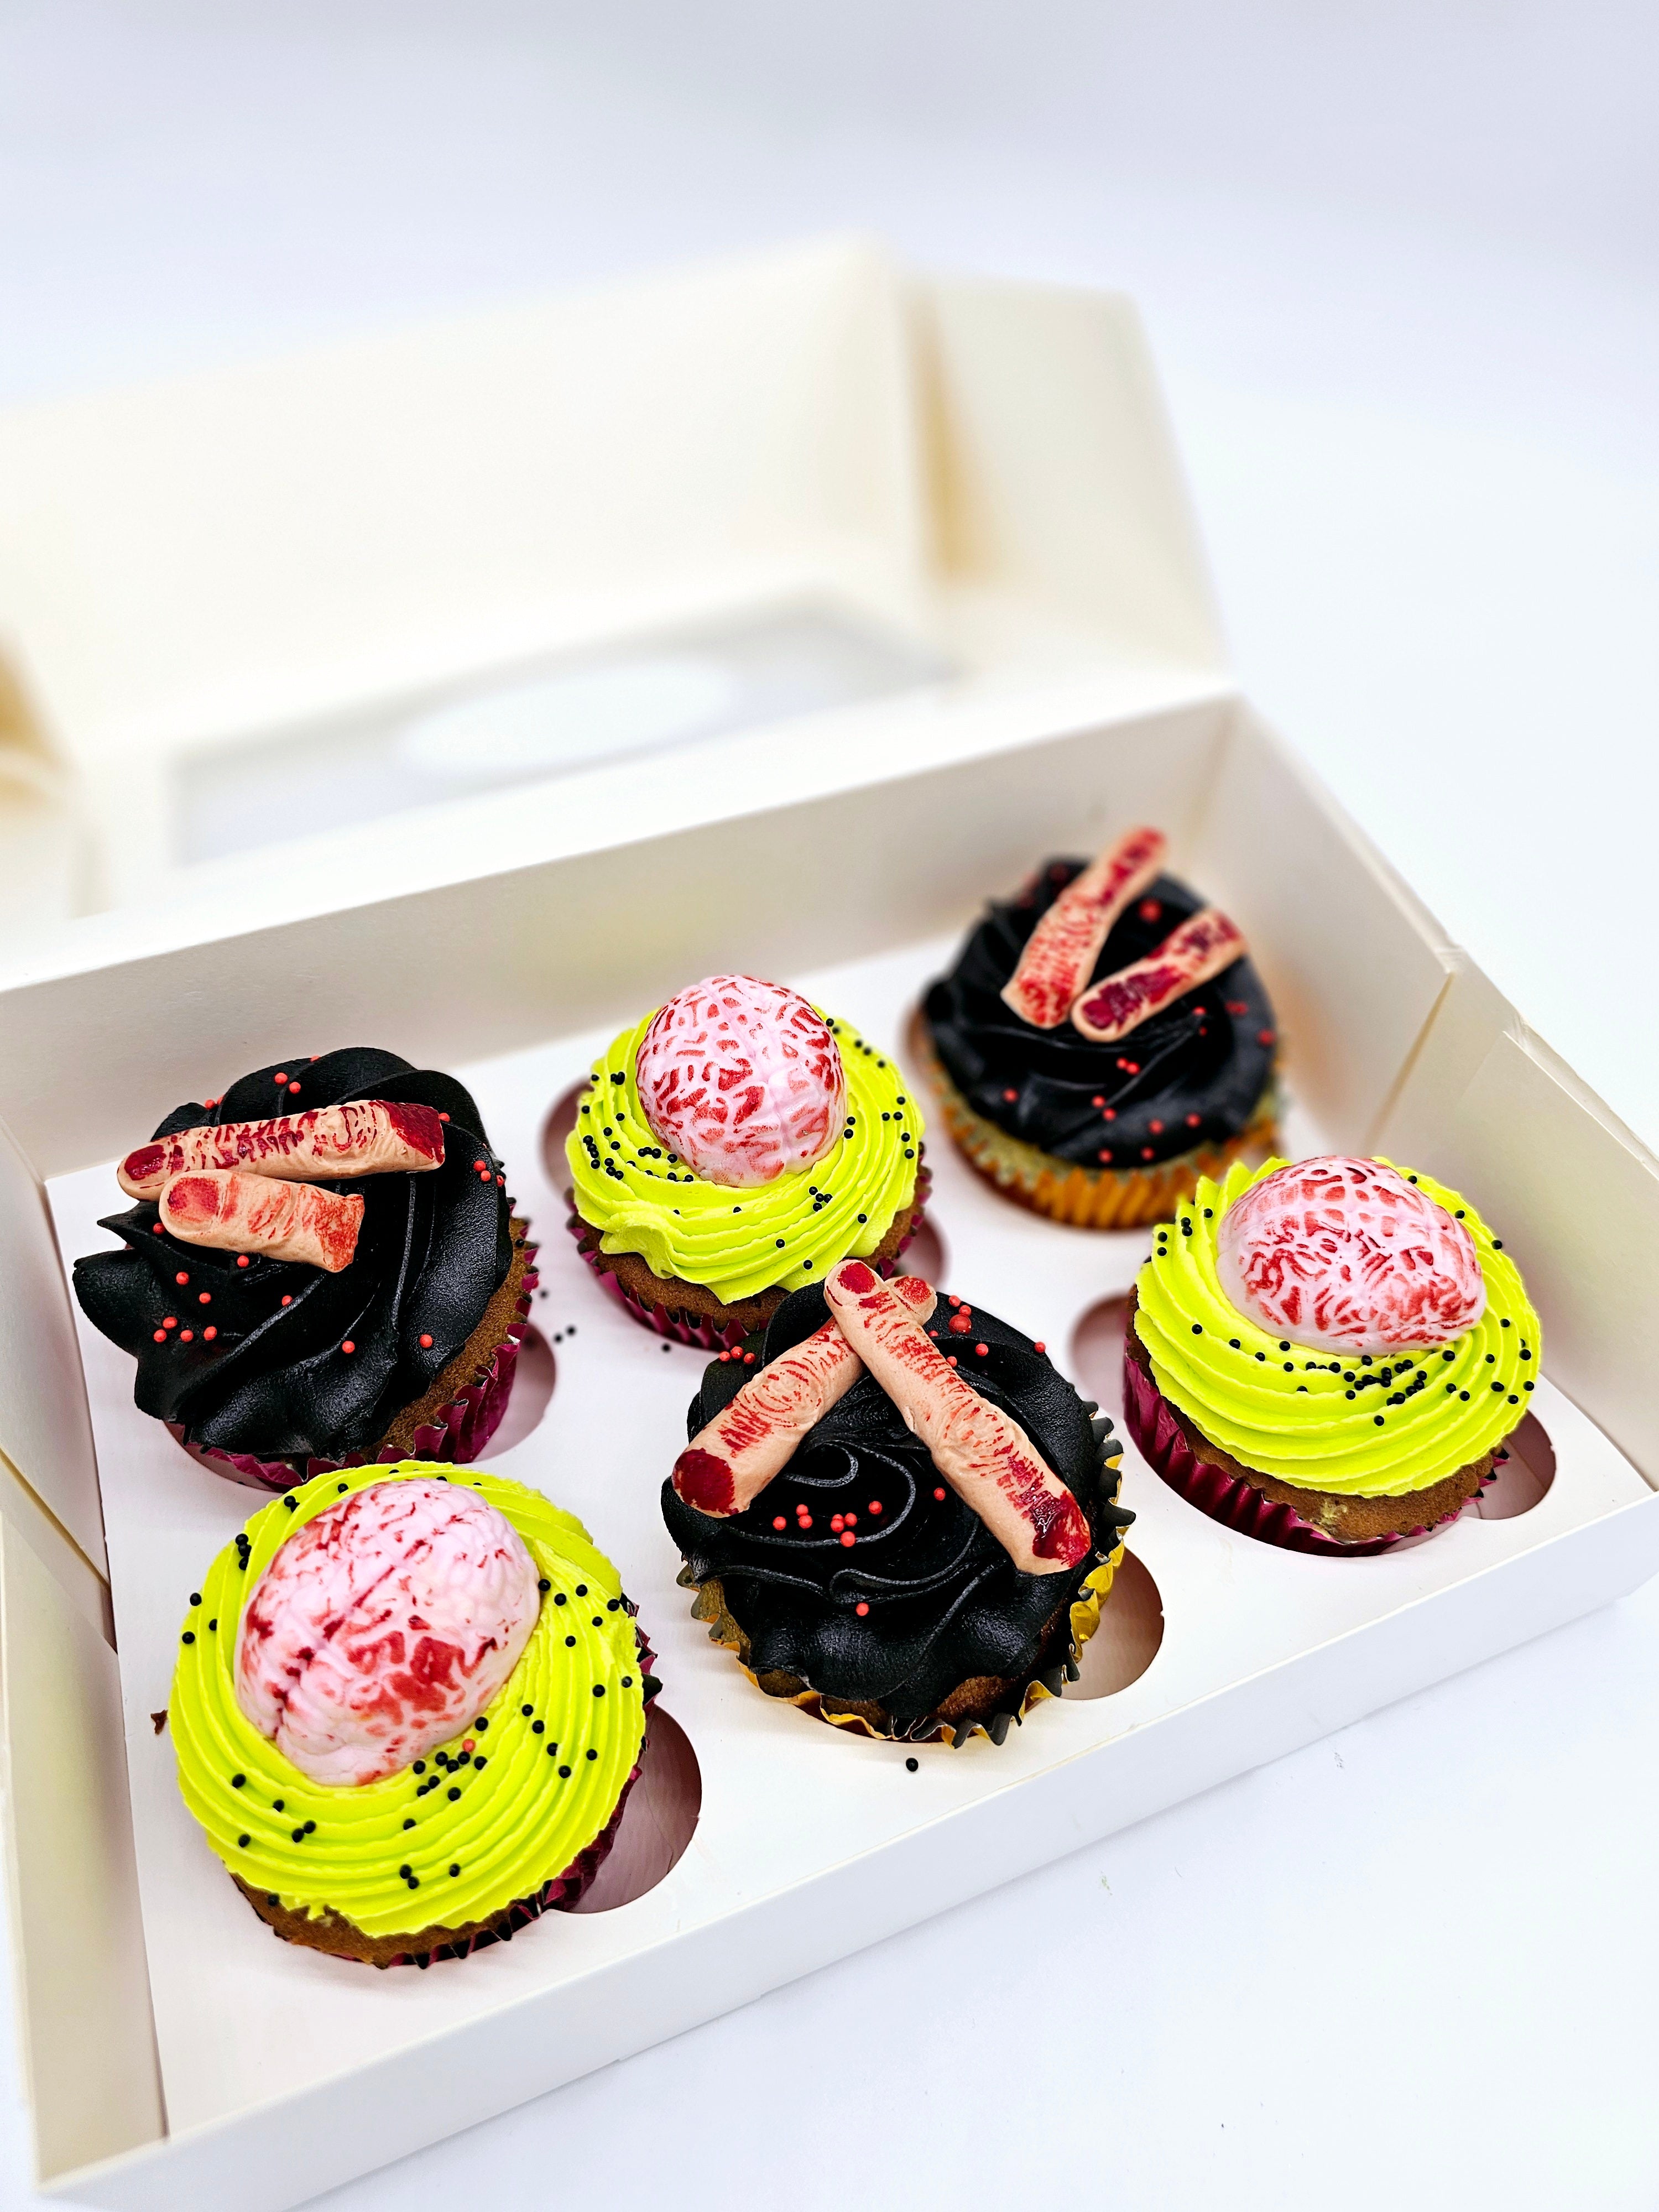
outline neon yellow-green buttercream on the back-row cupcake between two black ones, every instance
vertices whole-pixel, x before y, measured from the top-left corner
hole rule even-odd
[[[637,1252],[664,1281],[701,1283],[728,1305],[823,1283],[841,1259],[869,1259],[916,1197],[922,1113],[894,1062],[825,1013],[847,1071],[841,1139],[816,1168],[730,1190],[692,1175],[646,1121],[635,1062],[655,1018],[657,1009],[593,1062],[564,1144],[575,1208],[599,1230],[599,1250]]]

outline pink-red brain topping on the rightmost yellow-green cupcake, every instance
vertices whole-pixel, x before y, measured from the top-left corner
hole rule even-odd
[[[1316,1352],[1444,1345],[1486,1310],[1462,1221],[1376,1159],[1303,1159],[1228,1208],[1217,1237],[1225,1296]]]

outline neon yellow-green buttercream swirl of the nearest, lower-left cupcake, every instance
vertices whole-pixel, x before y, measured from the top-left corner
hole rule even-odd
[[[414,1475],[507,1515],[546,1584],[542,1610],[502,1690],[451,1743],[378,1783],[314,1783],[237,1705],[243,1599],[294,1528],[349,1491]],[[290,1911],[332,1907],[367,1936],[487,1920],[573,1865],[639,1756],[646,1692],[617,1571],[575,1515],[471,1467],[354,1467],[288,1498],[292,1509],[279,1498],[254,1513],[246,1555],[226,1544],[190,1601],[168,1699],[184,1803],[226,1867]],[[462,1759],[465,1739],[476,1750]]]

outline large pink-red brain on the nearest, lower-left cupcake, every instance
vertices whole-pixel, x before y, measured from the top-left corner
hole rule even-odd
[[[312,1781],[380,1781],[495,1697],[540,1604],[495,1506],[438,1480],[376,1482],[296,1528],[259,1577],[237,1705]]]

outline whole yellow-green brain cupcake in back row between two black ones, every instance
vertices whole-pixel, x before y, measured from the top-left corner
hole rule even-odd
[[[838,1259],[891,1274],[922,1219],[922,1117],[872,1044],[754,975],[624,1029],[564,1146],[571,1234],[635,1321],[739,1345]]]

